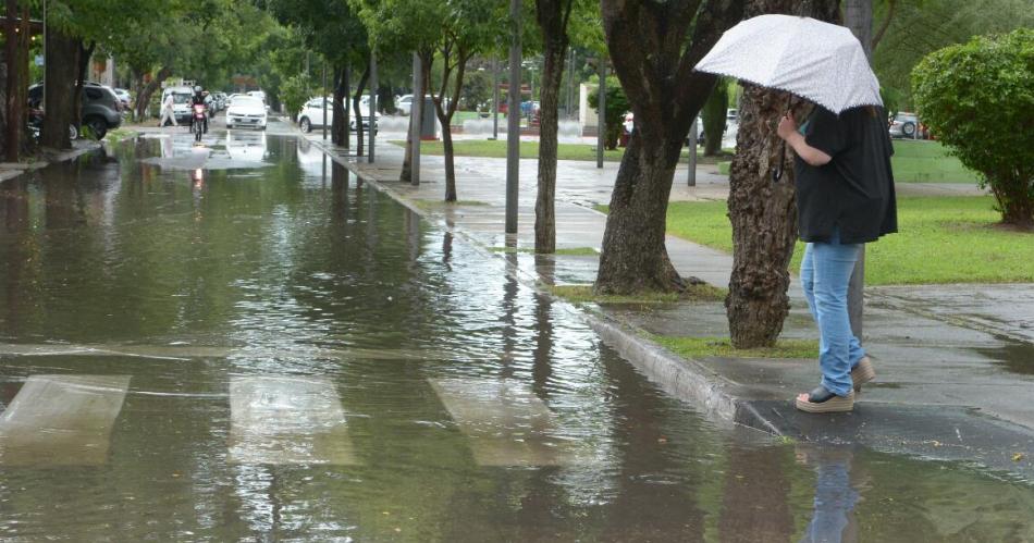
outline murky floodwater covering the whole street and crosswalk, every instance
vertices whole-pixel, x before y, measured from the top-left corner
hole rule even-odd
[[[0,185],[0,540],[1034,540],[1029,482],[714,427],[315,147],[188,138]]]

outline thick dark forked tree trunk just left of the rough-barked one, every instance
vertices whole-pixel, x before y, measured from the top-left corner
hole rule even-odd
[[[715,82],[693,66],[739,21],[742,5],[736,0],[601,4],[607,49],[636,127],[611,196],[595,291],[680,289],[684,282],[664,247],[668,196],[686,135]]]

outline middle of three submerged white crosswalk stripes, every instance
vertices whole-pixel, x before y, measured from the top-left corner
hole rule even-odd
[[[358,464],[337,388],[324,378],[231,378],[230,461]]]

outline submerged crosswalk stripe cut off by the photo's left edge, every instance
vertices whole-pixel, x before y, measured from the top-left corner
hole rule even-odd
[[[108,460],[130,375],[32,375],[0,416],[0,465],[98,466]]]

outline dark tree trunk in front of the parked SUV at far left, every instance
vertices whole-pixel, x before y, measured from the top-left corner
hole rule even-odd
[[[75,91],[75,78],[69,74],[77,73],[79,42],[51,27],[47,33],[47,111],[40,128],[39,139],[46,147],[70,149],[69,125],[73,122],[72,95]]]

